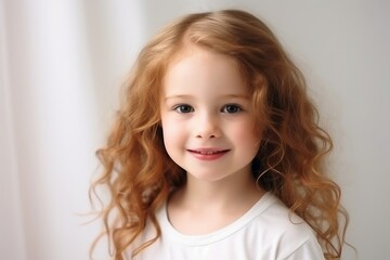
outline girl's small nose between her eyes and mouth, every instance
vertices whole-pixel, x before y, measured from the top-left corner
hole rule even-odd
[[[219,138],[221,135],[218,118],[204,115],[195,121],[195,136],[202,139]]]

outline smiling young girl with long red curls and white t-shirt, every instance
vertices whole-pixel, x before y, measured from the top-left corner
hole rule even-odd
[[[92,185],[110,192],[115,259],[340,258],[332,141],[260,20],[184,16],[141,51],[127,86]]]

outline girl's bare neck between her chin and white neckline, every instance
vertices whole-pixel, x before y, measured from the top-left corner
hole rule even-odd
[[[168,202],[171,224],[185,234],[219,230],[246,213],[264,194],[252,177],[214,182],[192,179]]]

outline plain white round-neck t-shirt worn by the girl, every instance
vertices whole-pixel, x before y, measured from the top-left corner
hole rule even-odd
[[[156,213],[161,236],[142,250],[135,260],[324,259],[312,229],[298,216],[290,217],[288,208],[271,193],[263,195],[233,223],[206,235],[181,234],[167,216],[164,205]],[[155,229],[148,224],[139,242],[154,235]]]

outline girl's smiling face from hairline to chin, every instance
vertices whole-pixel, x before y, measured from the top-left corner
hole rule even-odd
[[[165,147],[187,174],[250,174],[260,136],[233,58],[188,47],[168,68],[160,104]]]

